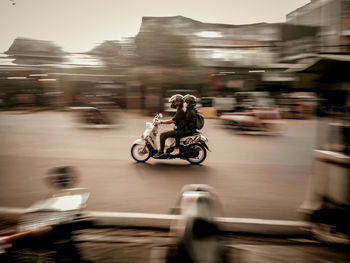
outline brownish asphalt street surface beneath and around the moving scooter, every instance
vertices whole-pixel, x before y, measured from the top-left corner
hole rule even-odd
[[[206,121],[206,161],[136,163],[135,139],[152,117],[119,113],[118,125],[88,128],[73,112],[0,113],[0,206],[27,207],[50,192],[48,169],[73,165],[91,190],[89,210],[168,213],[183,185],[213,186],[224,215],[299,220],[312,167],[316,120],[286,120],[280,136],[240,135]],[[169,129],[167,126],[162,129]]]

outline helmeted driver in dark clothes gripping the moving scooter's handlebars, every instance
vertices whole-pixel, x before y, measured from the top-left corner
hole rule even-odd
[[[170,107],[176,109],[176,113],[172,119],[157,121],[155,124],[175,124],[174,130],[162,132],[160,134],[160,148],[159,151],[153,156],[154,158],[160,158],[164,155],[165,141],[168,138],[176,138],[177,126],[185,119],[185,112],[183,110],[183,96],[180,94],[173,95],[169,102]]]

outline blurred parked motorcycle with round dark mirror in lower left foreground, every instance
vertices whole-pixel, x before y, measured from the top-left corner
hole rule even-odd
[[[48,182],[59,189],[27,208],[18,220],[17,233],[0,237],[1,262],[83,262],[73,232],[92,223],[82,214],[90,193],[69,188],[76,181],[71,167],[56,172]]]

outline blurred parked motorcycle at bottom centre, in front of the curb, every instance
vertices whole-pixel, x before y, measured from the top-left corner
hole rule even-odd
[[[168,247],[166,262],[228,262],[216,217],[222,207],[215,190],[208,185],[190,184],[182,188],[170,225],[175,244]]]

